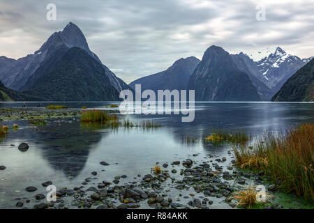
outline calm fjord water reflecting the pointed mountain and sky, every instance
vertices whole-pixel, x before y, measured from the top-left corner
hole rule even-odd
[[[20,102],[3,102],[0,107],[22,107]],[[42,106],[60,104],[42,102]],[[83,103],[67,102],[73,108]],[[106,109],[112,102],[84,102],[89,108]],[[118,103],[117,103],[118,104]],[[27,102],[27,107],[37,107],[38,102]],[[41,183],[51,180],[57,188],[73,188],[81,185],[85,178],[112,181],[114,176],[126,174],[120,184],[133,181],[137,174],[149,174],[156,162],[163,164],[174,160],[193,158],[202,160],[204,155],[225,155],[230,146],[212,146],[184,143],[184,137],[205,136],[217,131],[246,130],[251,134],[262,134],[265,130],[280,131],[299,123],[313,123],[314,103],[274,102],[195,102],[195,121],[182,123],[181,115],[128,115],[140,123],[151,120],[161,128],[105,128],[82,125],[78,118],[65,118],[47,125],[33,126],[24,121],[20,128],[10,130],[0,141],[0,208],[15,208],[17,198],[35,194],[47,194]],[[29,150],[22,153],[17,146],[26,142]],[[14,146],[13,146],[14,145]],[[193,154],[200,155],[193,157]],[[103,167],[105,161],[110,166]],[[25,191],[35,186],[38,191]],[[95,185],[94,185],[95,186]],[[97,184],[96,184],[97,186]],[[214,208],[217,206],[214,206]]]

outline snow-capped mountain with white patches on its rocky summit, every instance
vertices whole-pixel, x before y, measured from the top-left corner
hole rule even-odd
[[[232,55],[239,70],[248,73],[263,100],[270,100],[297,70],[311,61],[287,54],[281,47]]]

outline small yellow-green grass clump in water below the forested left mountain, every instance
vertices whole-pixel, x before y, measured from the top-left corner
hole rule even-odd
[[[118,123],[118,117],[116,115],[110,116],[106,112],[92,109],[81,112],[82,123]]]

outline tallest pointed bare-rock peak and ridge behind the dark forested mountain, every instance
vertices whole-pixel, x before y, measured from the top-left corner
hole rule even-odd
[[[63,31],[53,33],[34,54],[29,54],[17,60],[0,60],[0,79],[3,81],[3,84],[10,89],[29,91],[36,80],[43,75],[43,73],[47,72],[47,69],[49,69],[47,65],[51,63],[52,60],[55,60],[51,58],[55,52],[58,51],[59,56],[61,56],[60,49],[63,49],[64,53],[71,47],[84,49],[90,56],[98,61],[105,70],[104,74],[110,79],[110,83],[117,91],[130,89],[128,84],[117,78],[109,68],[100,62],[98,56],[91,52],[84,34],[80,28],[72,22],[67,24]]]

